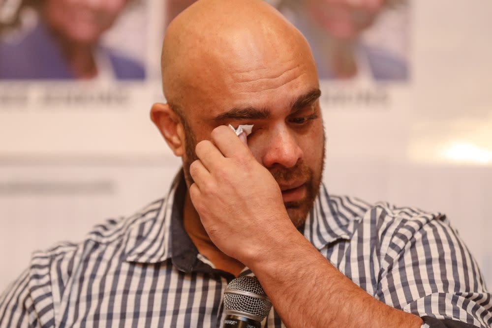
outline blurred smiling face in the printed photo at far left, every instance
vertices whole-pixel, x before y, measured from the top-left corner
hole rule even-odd
[[[122,11],[126,0],[45,0],[48,24],[64,38],[94,44]]]

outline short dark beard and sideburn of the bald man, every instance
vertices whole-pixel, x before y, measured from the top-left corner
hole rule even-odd
[[[185,158],[183,159],[183,171],[184,179],[189,188],[194,181],[189,174],[189,166],[195,160],[199,159],[195,153],[196,138],[191,130],[190,126],[183,120],[184,127],[184,153]],[[309,168],[304,161],[298,160],[295,166],[291,168],[275,168],[269,169],[272,176],[275,178],[277,183],[288,184],[289,181],[306,181],[306,197],[302,200],[295,202],[284,202],[285,209],[289,215],[290,220],[296,228],[300,228],[304,225],[307,219],[307,214],[312,209],[314,201],[319,193],[319,187],[321,185],[321,177],[325,165],[325,133],[323,129],[323,144],[322,144],[322,155],[321,161],[316,171]]]

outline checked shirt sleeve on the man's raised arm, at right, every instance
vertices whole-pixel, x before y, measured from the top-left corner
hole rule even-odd
[[[491,294],[445,216],[400,222],[382,262],[379,298],[422,317],[422,327],[491,327]]]

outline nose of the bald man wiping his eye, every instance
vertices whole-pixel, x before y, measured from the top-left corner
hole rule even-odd
[[[266,168],[276,164],[291,168],[303,157],[303,150],[299,147],[295,134],[287,126],[278,126],[266,137],[262,157],[263,166]]]

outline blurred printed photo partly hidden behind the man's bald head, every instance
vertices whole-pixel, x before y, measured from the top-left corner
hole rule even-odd
[[[167,0],[166,26],[194,0]],[[306,37],[322,80],[404,82],[408,0],[267,0]]]

